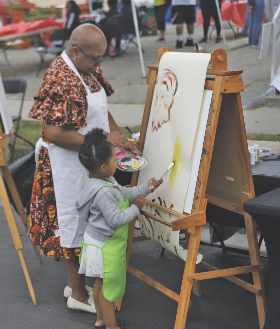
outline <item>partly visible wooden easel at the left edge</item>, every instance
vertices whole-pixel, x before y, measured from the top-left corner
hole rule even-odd
[[[26,232],[28,232],[28,217],[27,214],[25,212],[25,209],[22,205],[22,202],[20,200],[20,197],[18,195],[17,189],[15,187],[14,181],[12,179],[12,175],[11,172],[8,168],[8,164],[7,164],[7,149],[6,149],[6,142],[5,139],[6,138],[11,138],[11,135],[6,135],[4,133],[4,127],[3,127],[3,122],[2,122],[2,118],[0,117],[0,167],[2,169],[3,172],[3,176],[5,178],[5,181],[7,183],[8,189],[11,193],[12,199],[14,201],[14,204],[16,206],[17,212],[23,222],[23,225],[25,226]],[[12,207],[11,207],[11,203],[8,197],[8,193],[6,190],[6,186],[4,183],[4,179],[0,173],[0,197],[2,200],[2,204],[3,204],[3,208],[4,208],[4,212],[9,224],[9,228],[10,228],[10,232],[12,234],[12,239],[13,239],[13,243],[15,246],[15,249],[18,252],[18,256],[21,262],[21,266],[23,268],[23,272],[25,275],[25,279],[27,282],[27,286],[31,295],[31,298],[33,300],[33,303],[35,305],[37,305],[37,301],[36,301],[36,297],[35,297],[35,292],[31,283],[31,279],[28,273],[28,269],[25,263],[25,259],[22,253],[22,248],[23,248],[23,244],[22,241],[20,239],[20,235],[19,235],[19,231],[18,231],[18,227],[14,218],[14,214],[12,211]],[[35,254],[39,260],[39,262],[42,264],[42,260],[39,254],[39,251],[37,249],[37,247],[33,244],[33,248],[35,250]]]

